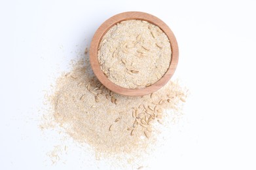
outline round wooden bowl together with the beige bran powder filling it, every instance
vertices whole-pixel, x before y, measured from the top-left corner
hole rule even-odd
[[[174,33],[144,12],[123,12],[100,25],[91,42],[90,63],[100,82],[122,95],[162,88],[177,67]]]

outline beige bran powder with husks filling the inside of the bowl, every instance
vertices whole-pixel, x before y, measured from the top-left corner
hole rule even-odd
[[[124,88],[145,88],[166,73],[172,56],[170,41],[156,25],[126,20],[103,36],[98,60],[103,73]]]

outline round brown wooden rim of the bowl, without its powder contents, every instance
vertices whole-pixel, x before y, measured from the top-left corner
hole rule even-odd
[[[109,29],[124,20],[145,20],[151,24],[157,25],[164,33],[166,33],[168,39],[170,40],[171,49],[172,49],[172,58],[170,61],[170,66],[164,76],[160,78],[157,82],[154,84],[151,84],[151,86],[141,88],[141,89],[130,89],[130,88],[123,88],[121,86],[118,86],[117,84],[114,84],[109,80],[104,74],[103,71],[100,68],[100,63],[98,61],[98,49],[100,46],[100,42],[102,37],[109,31]],[[94,34],[94,37],[92,38],[92,42],[90,45],[90,64],[92,66],[92,70],[94,71],[94,74],[96,77],[100,80],[100,82],[109,90],[119,93],[121,95],[130,95],[130,96],[136,96],[136,95],[146,95],[149,93],[156,92],[156,90],[162,88],[174,75],[175,69],[177,67],[179,59],[179,48],[177,45],[177,41],[175,39],[174,33],[172,33],[172,30],[166,25],[162,20],[159,18],[156,18],[156,16],[153,16],[151,14],[147,14],[145,12],[123,12],[120,14],[117,14],[115,16],[112,16],[103,24],[100,25],[100,27],[97,29],[96,33]]]

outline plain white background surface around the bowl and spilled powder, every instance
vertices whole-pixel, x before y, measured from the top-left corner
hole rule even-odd
[[[171,27],[180,50],[174,78],[191,91],[184,120],[145,167],[256,169],[255,9],[253,0],[1,1],[0,169],[111,169],[75,146],[51,165],[46,152],[58,135],[44,137],[37,110],[100,24],[130,10]]]

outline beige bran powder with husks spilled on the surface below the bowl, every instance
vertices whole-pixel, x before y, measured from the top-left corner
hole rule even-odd
[[[48,120],[101,154],[145,152],[157,139],[155,124],[162,123],[167,109],[179,114],[177,106],[185,98],[184,90],[171,81],[142,97],[113,93],[94,76],[86,55],[58,78],[49,97]]]

